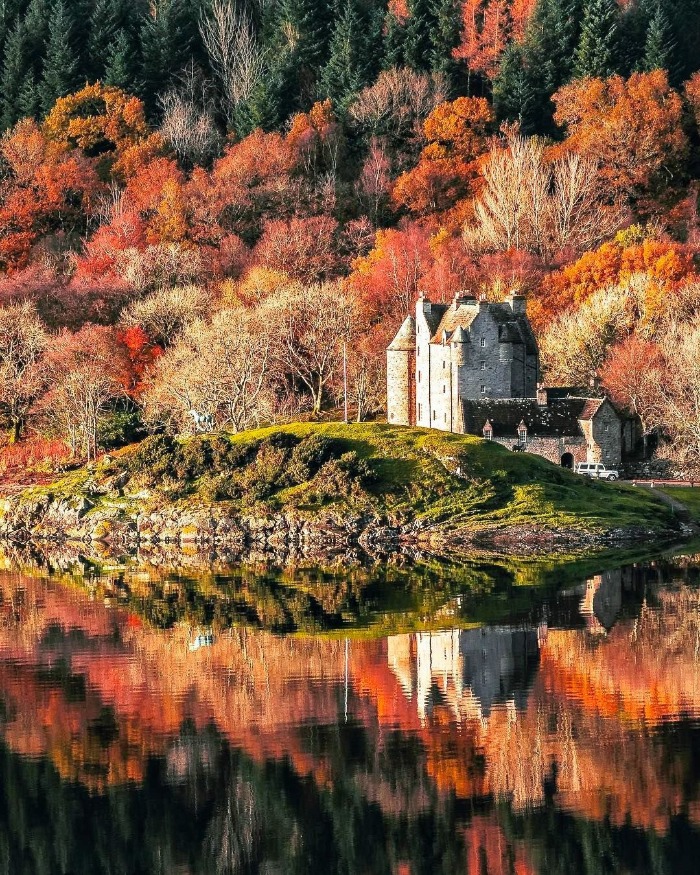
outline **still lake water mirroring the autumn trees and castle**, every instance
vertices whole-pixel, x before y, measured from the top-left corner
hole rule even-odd
[[[700,555],[0,572],[2,873],[699,871]]]

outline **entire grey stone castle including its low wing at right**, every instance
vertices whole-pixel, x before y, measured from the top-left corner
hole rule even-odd
[[[632,424],[605,398],[539,383],[537,341],[516,294],[503,302],[459,293],[421,296],[387,348],[387,419],[477,434],[573,467],[619,465]]]

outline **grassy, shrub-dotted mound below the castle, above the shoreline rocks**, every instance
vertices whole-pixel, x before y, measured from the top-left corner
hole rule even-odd
[[[74,495],[89,481],[94,496],[115,477],[123,487],[118,499],[98,495],[98,509],[106,502],[127,515],[204,502],[234,513],[388,517],[442,531],[660,531],[672,523],[665,506],[631,487],[587,480],[479,438],[382,424],[304,423],[182,442],[154,437],[32,494]]]

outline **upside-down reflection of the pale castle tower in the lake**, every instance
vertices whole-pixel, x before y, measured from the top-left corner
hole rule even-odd
[[[394,635],[387,657],[421,721],[438,704],[457,719],[482,719],[498,703],[524,707],[545,632],[492,627]]]

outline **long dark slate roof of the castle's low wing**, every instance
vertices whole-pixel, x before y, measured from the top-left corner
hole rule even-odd
[[[560,398],[546,407],[534,398],[461,402],[467,434],[482,435],[488,420],[493,436],[502,438],[515,438],[521,422],[533,437],[581,436],[580,420],[592,419],[603,403],[602,398]]]

